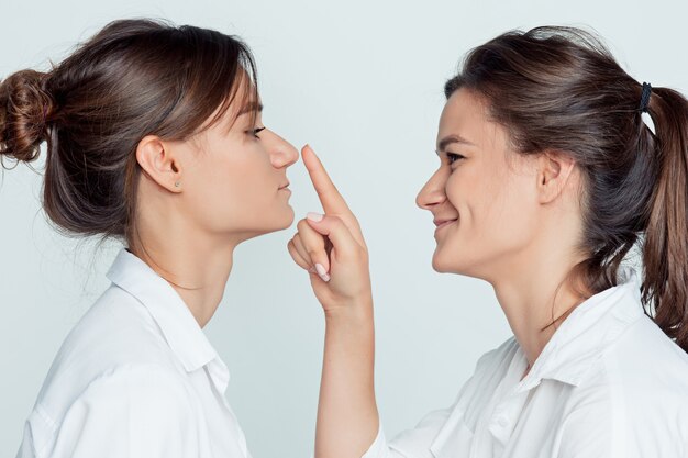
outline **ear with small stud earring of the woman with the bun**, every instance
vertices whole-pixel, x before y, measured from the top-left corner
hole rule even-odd
[[[170,192],[181,192],[181,166],[169,144],[146,135],[136,146],[136,160],[145,174]]]

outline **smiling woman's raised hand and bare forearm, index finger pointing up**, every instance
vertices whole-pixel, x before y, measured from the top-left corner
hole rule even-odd
[[[324,210],[324,215],[309,213],[299,221],[288,244],[293,260],[310,272],[325,311],[315,458],[359,458],[379,427],[368,249],[315,153],[307,145],[301,156]]]

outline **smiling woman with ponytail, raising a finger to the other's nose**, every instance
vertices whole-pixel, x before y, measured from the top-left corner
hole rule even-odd
[[[322,273],[315,457],[687,457],[688,101],[566,27],[478,46],[445,94],[417,199],[437,226],[433,268],[488,281],[514,335],[452,406],[387,442],[366,245],[304,152],[325,214],[289,250]]]

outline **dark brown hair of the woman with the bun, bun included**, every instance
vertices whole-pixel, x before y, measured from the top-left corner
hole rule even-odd
[[[57,228],[131,245],[138,142],[186,139],[234,100],[252,99],[255,64],[236,37],[114,21],[49,71],[22,70],[0,83],[0,159],[32,161],[45,141],[43,206]]]

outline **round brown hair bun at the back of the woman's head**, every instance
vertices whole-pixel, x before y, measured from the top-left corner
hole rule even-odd
[[[48,136],[46,119],[54,109],[44,89],[46,76],[22,70],[0,83],[0,158],[29,163],[38,157],[38,147]]]

